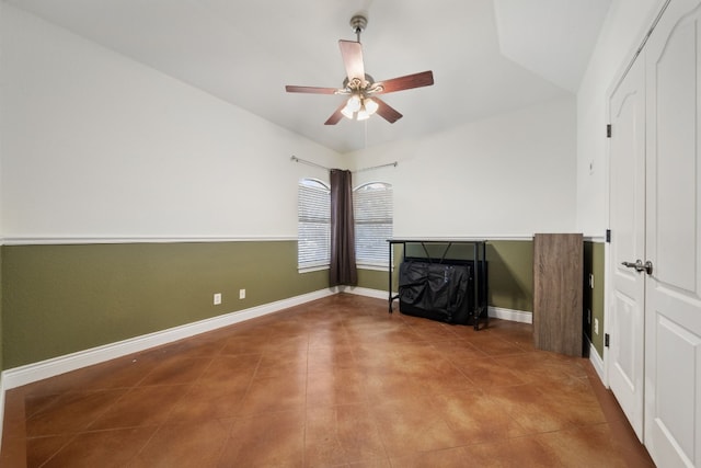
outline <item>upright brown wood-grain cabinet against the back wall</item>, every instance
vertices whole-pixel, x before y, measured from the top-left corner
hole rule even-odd
[[[533,237],[533,343],[582,356],[584,239],[581,233]]]

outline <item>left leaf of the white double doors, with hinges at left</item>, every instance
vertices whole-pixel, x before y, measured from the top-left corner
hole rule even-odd
[[[643,440],[645,275],[633,264],[645,258],[645,67],[639,58],[609,102],[612,292],[608,381],[637,437]],[[625,266],[627,263],[629,266]]]

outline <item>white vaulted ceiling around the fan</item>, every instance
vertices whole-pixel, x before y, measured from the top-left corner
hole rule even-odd
[[[611,1],[8,0],[342,153],[575,92]],[[325,126],[343,98],[285,84],[341,88],[359,11],[366,72],[435,84],[384,95],[395,124]]]

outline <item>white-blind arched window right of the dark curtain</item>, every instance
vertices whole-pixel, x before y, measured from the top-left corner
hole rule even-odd
[[[389,266],[388,243],[392,238],[392,185],[371,182],[355,189],[356,262],[370,266]]]

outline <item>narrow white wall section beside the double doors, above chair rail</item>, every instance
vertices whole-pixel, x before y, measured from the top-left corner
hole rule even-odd
[[[577,93],[577,229],[608,227],[607,100],[665,0],[614,0]]]

